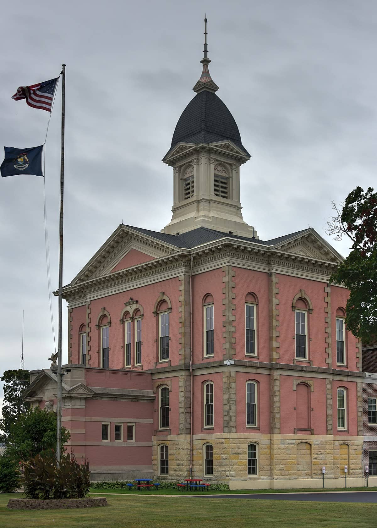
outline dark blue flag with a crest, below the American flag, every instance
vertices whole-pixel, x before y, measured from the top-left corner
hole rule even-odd
[[[0,167],[2,177],[16,174],[43,176],[42,150],[43,145],[32,148],[4,147],[5,159]]]

